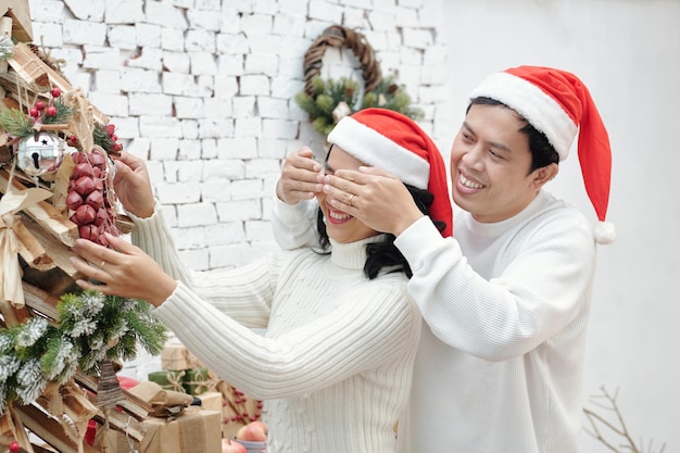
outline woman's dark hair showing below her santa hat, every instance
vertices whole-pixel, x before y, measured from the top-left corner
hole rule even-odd
[[[417,187],[413,187],[407,184],[404,186],[406,186],[406,189],[411,192],[411,196],[420,212],[429,216],[430,206],[435,200],[432,192],[418,189]],[[442,231],[446,226],[445,222],[439,219],[432,219],[432,222],[440,231]],[[318,209],[316,215],[316,228],[318,230],[318,244],[320,248],[320,251],[317,250],[317,253],[329,253],[328,249],[330,248],[330,240],[328,239],[328,234],[326,232],[326,223],[324,222],[324,214],[322,213],[320,207]],[[383,241],[370,242],[366,244],[367,256],[366,263],[364,264],[364,275],[366,277],[374,279],[380,274],[381,270],[386,269],[385,272],[388,273],[403,272],[408,278],[411,278],[413,275],[411,266],[396,246],[394,246],[394,235],[386,234]]]

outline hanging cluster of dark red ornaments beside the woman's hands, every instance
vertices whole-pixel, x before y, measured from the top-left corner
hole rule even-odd
[[[109,158],[99,149],[77,151],[71,158],[75,163],[66,194],[71,222],[78,225],[81,238],[108,247],[104,232],[121,235],[115,224],[115,196],[108,187]]]

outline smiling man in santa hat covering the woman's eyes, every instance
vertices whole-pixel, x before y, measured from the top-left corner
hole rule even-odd
[[[282,247],[310,243],[303,200],[323,190],[333,206],[396,236],[429,327],[399,451],[577,452],[595,242],[614,240],[604,223],[607,133],[583,84],[555,68],[493,74],[470,99],[451,151],[453,238],[442,238],[387,172],[319,178],[306,150],[284,167],[275,234]],[[577,133],[601,221],[594,235],[583,215],[543,190]]]

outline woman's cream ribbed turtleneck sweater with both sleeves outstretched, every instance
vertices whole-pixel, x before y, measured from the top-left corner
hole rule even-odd
[[[403,274],[364,277],[365,244],[378,237],[192,273],[158,209],[135,223],[133,242],[179,280],[156,316],[205,366],[265,400],[268,453],[394,451],[421,320]]]

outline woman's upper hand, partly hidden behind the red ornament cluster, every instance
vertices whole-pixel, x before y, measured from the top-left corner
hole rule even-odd
[[[112,155],[112,159],[116,166],[113,188],[118,200],[130,214],[140,218],[150,217],[155,200],[147,165],[141,159],[127,152]]]

